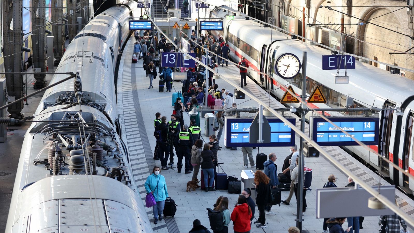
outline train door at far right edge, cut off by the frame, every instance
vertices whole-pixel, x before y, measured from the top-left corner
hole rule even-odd
[[[407,130],[405,133],[404,138],[404,151],[403,151],[403,159],[402,159],[402,169],[405,170],[405,173],[408,174],[409,168],[409,160],[413,156],[413,141],[414,141],[414,133],[413,133],[413,124],[414,124],[414,114],[411,113],[407,120]],[[402,186],[409,188],[409,178],[406,174],[402,176]]]

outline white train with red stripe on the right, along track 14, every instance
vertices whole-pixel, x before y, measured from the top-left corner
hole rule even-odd
[[[226,6],[223,8],[228,9]],[[296,93],[301,93],[300,73],[295,78],[285,80],[275,72],[275,61],[284,53],[294,53],[302,60],[303,51],[307,51],[307,92],[308,95],[319,86],[327,99],[326,104],[311,104],[314,108],[344,108],[347,97],[354,99],[351,107],[400,107],[403,115],[393,111],[381,111],[380,116],[380,140],[376,146],[370,146],[384,158],[389,158],[393,163],[405,170],[405,173],[414,175],[414,80],[392,75],[389,72],[356,61],[354,70],[347,70],[349,84],[335,84],[337,70],[322,70],[322,55],[330,55],[329,50],[310,45],[300,40],[292,40],[290,36],[269,27],[263,27],[257,22],[246,20],[247,15],[240,14],[234,19],[226,19],[229,9],[224,12],[222,8],[211,9],[212,18],[222,18],[224,21],[223,32],[212,31],[217,39],[218,33],[222,33],[224,40],[231,49],[230,58],[240,61],[242,56],[248,60],[250,68],[268,73],[271,78],[265,78],[256,72],[248,71],[248,76],[255,80],[265,90],[281,98],[286,91],[280,84],[288,86],[292,83]],[[233,14],[231,12],[231,14]],[[277,90],[274,90],[277,89]],[[330,115],[339,115],[337,112],[327,112]],[[360,113],[350,112],[347,115]],[[373,155],[362,146],[347,146],[346,150],[365,160],[384,177],[389,177],[394,184],[400,186],[402,191],[412,193],[414,180],[408,178],[403,172],[393,169],[388,163],[380,164],[377,155]]]

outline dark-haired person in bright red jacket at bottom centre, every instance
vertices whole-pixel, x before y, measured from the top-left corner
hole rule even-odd
[[[237,204],[231,212],[231,221],[233,221],[234,233],[250,233],[250,218],[252,210],[247,204],[246,197],[240,195]]]

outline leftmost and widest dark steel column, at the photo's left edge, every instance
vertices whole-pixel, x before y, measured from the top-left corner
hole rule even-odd
[[[3,55],[6,72],[22,72],[22,1],[2,0]],[[13,19],[13,30],[10,23]],[[23,75],[6,75],[7,95],[16,100],[23,97]],[[7,108],[11,117],[21,117],[23,101]]]

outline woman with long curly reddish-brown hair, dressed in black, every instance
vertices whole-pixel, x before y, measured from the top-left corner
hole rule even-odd
[[[272,191],[270,189],[270,179],[261,170],[255,172],[256,204],[258,205],[259,218],[255,221],[256,227],[266,228],[265,206],[272,200]]]

